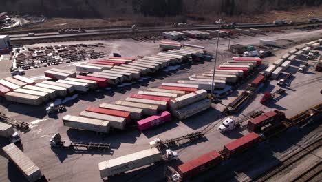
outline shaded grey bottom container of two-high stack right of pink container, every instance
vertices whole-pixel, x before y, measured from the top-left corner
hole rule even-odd
[[[211,107],[211,102],[209,99],[204,99],[201,101],[197,101],[191,105],[186,105],[186,107],[181,108],[180,110],[176,110],[174,112],[175,117],[178,119],[187,119],[199,112],[202,112]]]

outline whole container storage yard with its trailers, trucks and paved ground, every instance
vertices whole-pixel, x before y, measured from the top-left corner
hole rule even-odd
[[[322,31],[260,29],[24,45],[0,73],[0,119],[21,138],[1,137],[0,181],[319,179]]]

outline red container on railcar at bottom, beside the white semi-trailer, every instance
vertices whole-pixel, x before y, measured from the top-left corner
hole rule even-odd
[[[200,172],[204,172],[209,168],[213,168],[222,161],[222,156],[213,150],[208,154],[199,156],[197,159],[193,159],[187,163],[184,163],[178,167],[179,174],[182,179],[187,179],[188,177],[195,176]]]

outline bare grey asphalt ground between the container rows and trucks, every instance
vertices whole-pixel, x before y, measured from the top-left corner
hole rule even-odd
[[[303,39],[308,39],[311,37],[321,37],[321,30],[316,30],[314,32],[299,32],[290,31],[283,32],[282,34],[268,34],[266,36],[256,36],[256,37],[246,37],[241,36],[238,39],[232,39],[233,43],[241,44],[255,44],[259,42],[259,39],[263,37],[284,37],[286,39],[296,39],[297,41],[302,41]],[[321,38],[320,38],[321,39]],[[101,41],[96,41],[101,42]],[[120,52],[126,57],[135,57],[136,55],[147,55],[155,54],[158,52],[158,42],[137,42],[131,39],[120,39],[103,41],[109,45],[105,48],[100,48],[107,52]],[[231,43],[230,42],[230,43]],[[72,42],[69,42],[72,43]],[[79,43],[79,42],[78,42]],[[82,43],[94,43],[94,41],[85,41]],[[189,39],[186,43],[194,43],[197,45],[204,45],[209,52],[215,52],[216,40],[194,40]],[[52,43],[56,45],[57,43]],[[40,44],[42,46],[49,44]],[[38,45],[31,45],[38,46]],[[293,45],[294,46],[294,45]],[[228,47],[228,39],[223,39],[219,46],[219,56],[218,64],[222,61],[227,61],[233,54],[225,52]],[[276,50],[275,57],[270,57],[264,59],[264,63],[272,63],[280,57],[281,54],[288,52],[288,48],[285,50]],[[246,84],[242,85],[236,92],[234,92],[230,97],[224,98],[221,104],[213,104],[212,108],[195,115],[184,121],[171,121],[165,123],[160,127],[153,128],[152,130],[147,130],[146,132],[139,132],[136,129],[129,129],[125,132],[111,133],[107,136],[98,135],[93,132],[75,130],[63,126],[61,118],[66,114],[77,115],[81,111],[85,110],[89,105],[98,105],[100,103],[111,103],[120,99],[125,99],[131,93],[136,93],[138,90],[144,90],[144,88],[156,88],[161,85],[162,82],[175,83],[179,79],[188,79],[192,74],[201,74],[213,68],[213,62],[200,62],[193,63],[192,65],[186,64],[182,65],[178,70],[172,71],[161,71],[153,75],[149,75],[151,78],[147,78],[142,82],[133,83],[131,86],[125,88],[113,88],[112,90],[102,90],[101,92],[89,92],[81,94],[78,101],[75,101],[71,105],[67,105],[67,112],[58,114],[56,118],[48,118],[45,114],[44,107],[33,107],[20,104],[10,104],[6,101],[1,101],[0,110],[5,112],[8,117],[12,117],[19,121],[25,121],[32,125],[32,130],[25,134],[21,134],[22,139],[22,149],[26,155],[36,163],[36,165],[41,168],[41,171],[47,179],[50,181],[101,181],[100,174],[98,172],[98,163],[108,159],[112,159],[118,156],[123,156],[133,152],[138,152],[149,148],[149,141],[152,141],[155,136],[159,136],[161,139],[171,139],[174,137],[182,136],[196,130],[203,130],[204,128],[211,129],[206,134],[206,139],[200,141],[199,143],[191,143],[191,145],[180,145],[173,148],[173,150],[179,153],[180,161],[178,163],[186,162],[194,159],[201,154],[205,154],[211,150],[222,150],[224,144],[233,141],[245,134],[248,134],[246,130],[233,130],[227,134],[220,134],[217,131],[217,126],[220,121],[224,119],[220,110],[224,108],[224,105],[228,104],[232,99],[237,97],[238,92],[241,92],[246,87]],[[312,105],[321,103],[322,97],[319,90],[322,88],[322,74],[319,72],[314,72],[312,66],[314,61],[309,61],[311,68],[309,72],[301,74],[296,72],[299,63],[294,62],[292,68],[289,68],[287,72],[294,73],[294,79],[288,87],[286,88],[286,96],[281,98],[279,101],[272,102],[269,105],[261,105],[259,100],[264,92],[271,92],[276,90],[276,82],[270,81],[264,90],[255,97],[253,102],[246,105],[243,114],[248,114],[254,110],[272,110],[279,109],[286,112],[286,116],[290,117],[302,110],[306,110]],[[50,68],[64,68],[67,70],[73,70],[74,66],[58,65],[49,68],[39,68],[37,70],[26,71],[27,77],[41,77],[42,72]],[[0,74],[0,77],[6,77],[8,71]],[[40,81],[40,80],[39,80]],[[234,117],[240,117],[238,113]],[[245,123],[246,124],[246,123]],[[315,133],[321,131],[315,128],[319,127],[319,123],[312,123],[312,125],[305,126],[305,128],[299,128],[296,130],[291,130],[282,134],[279,139],[273,139],[267,143],[261,144],[259,149],[246,153],[244,156],[238,156],[235,159],[225,162],[224,167],[219,166],[214,170],[224,172],[226,175],[222,177],[223,181],[236,181],[237,178],[246,176],[256,176],[263,168],[257,168],[259,165],[265,165],[266,168],[271,165],[269,163],[270,159],[278,160],[279,154],[283,154],[292,145],[301,141],[302,138],[307,136],[315,136]],[[109,152],[87,152],[87,151],[68,151],[51,149],[49,145],[49,140],[51,136],[60,132],[63,140],[70,141],[92,141],[92,142],[103,142],[111,143],[111,151]],[[292,142],[288,141],[290,139]],[[306,138],[305,138],[306,139]],[[282,141],[283,140],[283,141]],[[6,141],[1,139],[1,147],[6,145]],[[286,145],[286,143],[289,143]],[[294,144],[293,144],[294,143]],[[260,157],[254,157],[255,161],[251,161],[250,156],[258,155],[262,150],[266,151],[261,154]],[[259,152],[259,153],[258,153]],[[3,152],[0,152],[0,181],[25,181],[21,172],[8,160],[3,157]],[[273,157],[274,156],[274,157]],[[260,159],[266,159],[258,163]],[[235,165],[238,163],[239,165]],[[256,164],[256,165],[255,165]],[[248,168],[249,165],[249,168]],[[227,167],[228,166],[228,167]],[[230,167],[231,168],[230,168]],[[235,167],[233,167],[235,166]],[[123,176],[115,176],[111,178],[111,181],[160,181],[164,176],[164,165],[154,165],[150,168],[143,168],[136,170],[135,172],[129,172]],[[244,172],[243,169],[247,171]],[[213,179],[215,176],[221,176],[219,173],[211,172],[203,174],[201,179],[196,179],[196,181],[203,181],[204,179]],[[239,175],[243,174],[243,175]]]

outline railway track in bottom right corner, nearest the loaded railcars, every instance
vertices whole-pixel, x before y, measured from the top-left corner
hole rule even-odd
[[[288,158],[281,161],[280,164],[276,165],[268,172],[258,176],[257,179],[254,179],[253,181],[262,182],[262,181],[266,181],[266,180],[272,178],[272,176],[275,176],[279,172],[288,168],[293,163],[303,159],[304,156],[307,156],[308,154],[310,154],[311,152],[313,152],[317,148],[320,148],[321,145],[322,145],[322,141],[321,141],[321,138],[319,138],[316,141],[314,141],[313,143],[311,143],[310,145],[306,146],[305,148],[301,148],[301,150],[299,150],[298,152],[295,152],[291,156],[288,156]]]

